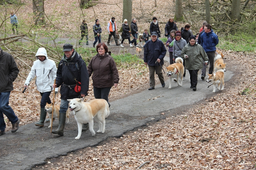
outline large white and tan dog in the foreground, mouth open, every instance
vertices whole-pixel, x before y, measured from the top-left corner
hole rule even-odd
[[[82,126],[89,123],[89,129],[92,136],[95,136],[93,130],[93,118],[98,122],[100,129],[98,133],[105,132],[106,117],[109,115],[108,102],[104,99],[93,99],[88,102],[83,102],[83,99],[72,99],[69,101],[69,109],[73,111],[78,126],[78,135],[75,139],[80,139]]]

